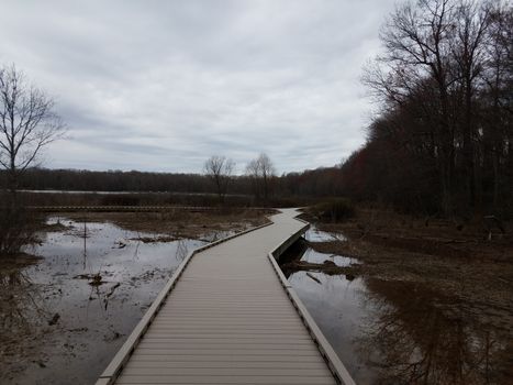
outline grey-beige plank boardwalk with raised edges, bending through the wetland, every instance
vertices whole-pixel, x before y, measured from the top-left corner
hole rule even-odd
[[[97,385],[354,384],[275,261],[294,216],[190,254]]]

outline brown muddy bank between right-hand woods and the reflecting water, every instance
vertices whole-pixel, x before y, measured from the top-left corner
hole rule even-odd
[[[513,234],[495,229],[491,241],[482,223],[415,219],[358,211],[344,223],[316,223],[345,240],[310,242],[321,253],[353,256],[355,276],[426,285],[472,304],[477,314],[494,308],[513,327]],[[506,228],[508,230],[508,228]],[[327,271],[333,266],[325,266]]]

